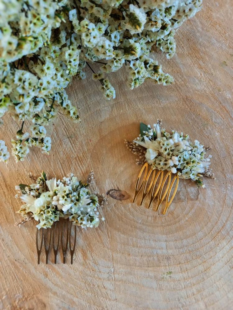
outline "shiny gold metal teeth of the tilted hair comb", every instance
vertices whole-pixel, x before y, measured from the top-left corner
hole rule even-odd
[[[143,177],[141,185],[139,186],[139,182],[140,182],[140,179],[142,178],[143,172],[144,172],[144,177]],[[152,172],[153,172],[153,175],[152,175],[150,184],[148,186],[148,180],[149,180]],[[163,214],[166,214],[167,209],[171,205],[171,202],[173,201],[173,199],[176,195],[176,191],[177,191],[177,188],[179,185],[179,175],[176,174],[174,176],[174,178],[172,179],[172,173],[171,173],[171,171],[168,171],[167,174],[164,176],[164,178],[163,178],[163,176],[164,176],[164,171],[162,171],[162,170],[158,170],[158,173],[156,174],[155,169],[151,168],[148,172],[148,163],[146,162],[139,172],[138,179],[137,179],[137,182],[135,185],[135,193],[134,193],[134,197],[133,197],[132,202],[134,202],[136,200],[139,192],[143,188],[140,206],[143,204],[145,197],[150,192],[150,201],[148,204],[148,208],[151,207],[152,202],[158,196],[158,202],[157,202],[157,206],[155,208],[155,211],[158,211],[162,202],[166,198],[165,208],[163,210]],[[158,182],[158,180],[159,180],[159,182]],[[167,181],[167,186],[165,187],[166,181]],[[176,186],[174,189],[174,193],[172,194],[172,196],[170,198],[171,190],[172,190],[175,182],[176,182]]]

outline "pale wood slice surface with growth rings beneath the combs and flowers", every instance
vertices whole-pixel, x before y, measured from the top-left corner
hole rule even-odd
[[[109,102],[96,82],[76,80],[69,95],[80,125],[60,116],[50,127],[49,157],[34,149],[25,162],[1,163],[1,309],[232,309],[230,3],[205,1],[177,32],[174,58],[159,56],[176,84],[129,91],[122,70],[114,74],[117,99]],[[138,135],[140,121],[157,117],[212,145],[216,175],[200,190],[181,180],[166,216],[130,203],[140,168],[123,143]],[[17,124],[5,122],[0,138],[10,146]],[[73,265],[59,258],[38,266],[34,224],[14,226],[15,185],[42,169],[51,177],[86,177],[93,169],[100,192],[119,187],[130,194],[122,203],[109,198],[97,229],[78,230]]]

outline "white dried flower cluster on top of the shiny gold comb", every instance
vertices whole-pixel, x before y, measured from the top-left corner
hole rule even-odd
[[[141,123],[141,134],[134,142],[147,149],[145,159],[153,169],[171,170],[180,178],[192,179],[204,187],[202,173],[208,172],[212,156],[205,157],[206,149],[198,140],[192,142],[182,132],[161,130],[158,121],[153,127]]]

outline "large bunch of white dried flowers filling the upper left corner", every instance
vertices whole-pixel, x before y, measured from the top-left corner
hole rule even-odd
[[[28,134],[21,128],[21,138],[12,141],[16,160],[23,160],[31,146],[49,152],[50,138],[43,126],[59,110],[79,121],[65,88],[73,76],[85,78],[85,67],[100,82],[106,99],[116,94],[105,74],[124,64],[131,89],[146,79],[163,85],[173,82],[149,54],[157,47],[170,58],[176,48],[175,30],[199,11],[201,3],[1,0],[0,118],[9,112],[18,121],[33,124]],[[90,66],[92,63],[98,72]],[[31,130],[34,126],[36,130]]]

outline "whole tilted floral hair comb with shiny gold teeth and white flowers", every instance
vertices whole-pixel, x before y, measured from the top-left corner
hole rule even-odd
[[[139,157],[137,164],[144,164],[138,176],[133,202],[143,188],[140,205],[143,203],[147,194],[151,192],[148,208],[158,195],[158,203],[155,210],[158,210],[162,201],[166,198],[166,205],[163,212],[163,214],[166,214],[168,207],[175,197],[179,178],[191,179],[199,187],[204,187],[202,177],[214,178],[214,175],[209,169],[210,158],[212,156],[209,155],[206,157],[206,152],[209,148],[205,148],[198,140],[194,140],[194,142],[190,141],[189,136],[183,135],[182,132],[178,133],[174,130],[168,132],[165,129],[161,129],[160,125],[161,121],[159,120],[153,126],[141,123],[139,137],[133,142],[126,141],[126,146],[132,153]],[[151,165],[149,172],[148,165]],[[156,169],[159,170],[157,175],[155,174]],[[167,170],[167,174],[163,178],[164,170]],[[143,181],[138,186],[143,172]],[[174,177],[172,179],[173,175]],[[151,182],[148,185],[149,179],[151,179]],[[165,186],[166,181],[167,186]],[[157,182],[159,183],[158,185]],[[174,184],[176,184],[175,190],[170,198]]]

